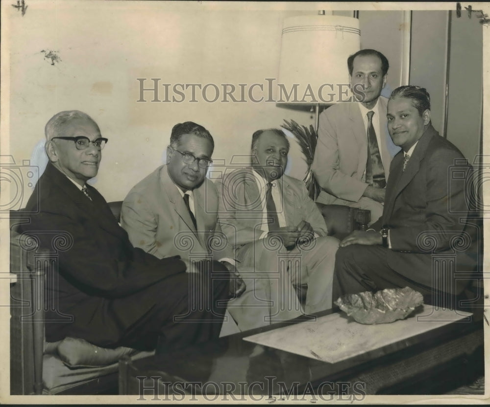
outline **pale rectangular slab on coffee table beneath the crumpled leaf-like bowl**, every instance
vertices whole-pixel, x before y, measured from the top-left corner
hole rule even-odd
[[[471,313],[424,305],[417,315],[388,324],[364,325],[335,313],[244,340],[323,362],[336,363],[459,320]],[[463,323],[463,322],[462,322]]]

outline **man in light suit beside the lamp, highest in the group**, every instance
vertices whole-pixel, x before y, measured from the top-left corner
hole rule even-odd
[[[359,102],[338,103],[320,114],[312,166],[322,189],[317,202],[369,209],[374,222],[383,212],[392,157],[400,150],[388,134],[388,99],[380,96],[389,63],[381,52],[362,49],[347,66]]]

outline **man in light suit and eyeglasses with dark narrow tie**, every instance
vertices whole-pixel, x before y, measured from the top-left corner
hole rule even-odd
[[[235,267],[232,245],[218,223],[218,193],[206,178],[213,150],[213,137],[204,127],[191,121],[176,124],[167,164],[131,189],[123,202],[121,226],[133,245],[158,258],[214,259],[232,272],[236,291],[228,311],[233,320],[224,322],[222,335],[269,325],[271,316],[297,317],[299,313],[275,310],[266,275],[260,278]]]

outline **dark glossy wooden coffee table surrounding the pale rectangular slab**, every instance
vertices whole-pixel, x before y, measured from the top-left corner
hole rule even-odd
[[[288,394],[317,394],[318,401],[337,394],[359,401],[366,394],[418,394],[421,383],[451,379],[460,384],[474,369],[483,371],[481,311],[476,310],[470,322],[452,322],[337,363],[243,339],[304,321],[300,317],[172,354],[123,360],[120,394],[170,401],[180,401],[184,394],[191,396],[187,400],[206,395],[210,401],[245,400],[240,395],[258,401]]]

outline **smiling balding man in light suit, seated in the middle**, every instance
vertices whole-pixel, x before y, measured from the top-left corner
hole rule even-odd
[[[302,181],[284,174],[289,142],[280,130],[252,136],[252,167],[216,181],[220,223],[245,266],[279,279],[279,298],[294,304],[289,284],[307,285],[307,314],[331,308],[335,253],[325,221]],[[297,297],[296,297],[297,298]]]

